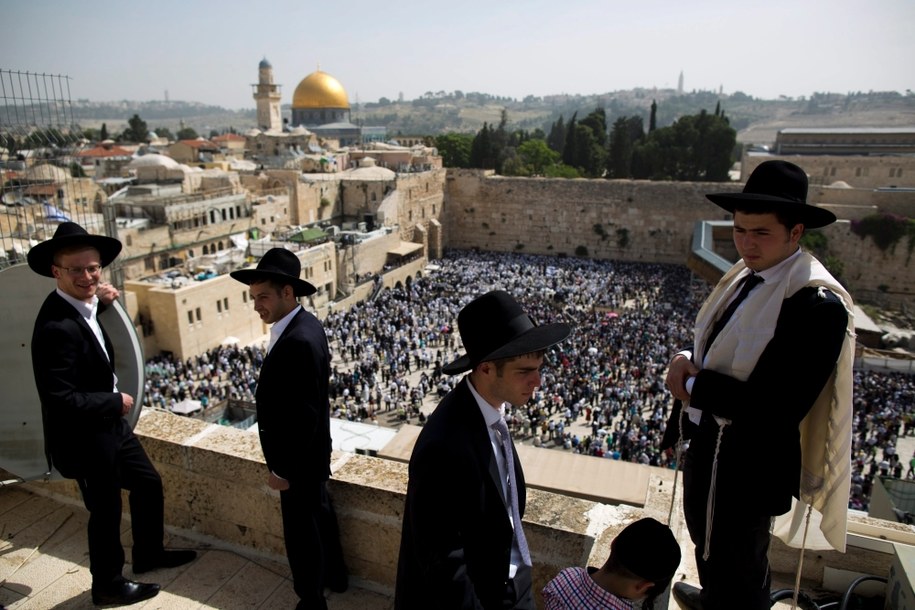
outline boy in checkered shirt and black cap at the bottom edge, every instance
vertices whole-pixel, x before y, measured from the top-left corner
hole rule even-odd
[[[546,610],[631,610],[634,601],[654,608],[680,565],[680,544],[670,528],[651,517],[627,525],[610,543],[600,569],[566,568],[543,588]]]

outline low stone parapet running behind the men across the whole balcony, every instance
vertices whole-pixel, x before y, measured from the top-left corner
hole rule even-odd
[[[141,414],[135,431],[162,476],[167,532],[247,557],[285,560],[279,495],[266,485],[267,471],[256,433],[149,409]],[[662,522],[672,518],[671,528],[683,549],[676,578],[697,582],[682,511],[678,508],[669,513],[672,500],[679,506],[682,488],[673,472],[644,468],[651,471],[644,508],[528,488],[524,528],[534,559],[535,591],[562,568],[602,565],[616,534],[626,524],[646,516]],[[335,451],[331,469],[328,489],[352,581],[362,588],[392,594],[407,464]],[[72,480],[25,485],[35,493],[82,504]],[[125,511],[127,507],[125,501]],[[886,540],[911,544],[915,535],[903,524],[850,516],[847,553],[805,553],[805,586],[820,586],[827,567],[886,574],[892,561],[891,544]],[[890,549],[876,548],[878,543]],[[779,582],[793,582],[798,553],[773,539],[770,561]],[[539,596],[537,599],[539,607]]]

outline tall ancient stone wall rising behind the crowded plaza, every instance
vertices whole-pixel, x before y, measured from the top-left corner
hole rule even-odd
[[[733,188],[733,187],[732,187]],[[729,215],[705,199],[719,184],[503,178],[449,170],[449,248],[685,263],[697,220]]]

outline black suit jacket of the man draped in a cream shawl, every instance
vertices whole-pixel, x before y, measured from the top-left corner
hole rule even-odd
[[[746,381],[702,369],[690,406],[703,411],[698,426],[683,416],[689,458],[710,469],[718,438],[711,415],[731,420],[718,453],[717,498],[733,498],[758,515],[791,508],[800,488],[799,425],[839,359],[848,314],[829,291],[802,288],[782,302],[775,333]],[[679,432],[680,405],[667,422],[662,447]]]

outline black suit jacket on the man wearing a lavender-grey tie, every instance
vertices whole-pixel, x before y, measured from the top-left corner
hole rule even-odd
[[[489,431],[466,377],[429,417],[409,472],[395,608],[500,607],[514,532]],[[517,455],[515,473],[523,515]]]

